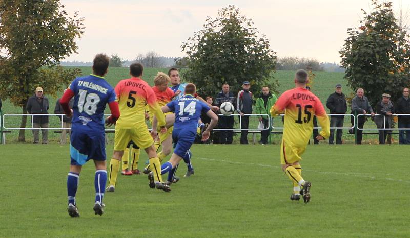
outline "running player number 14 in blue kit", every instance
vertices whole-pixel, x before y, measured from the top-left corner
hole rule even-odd
[[[179,161],[189,153],[189,149],[195,141],[196,128],[201,113],[206,113],[211,118],[211,123],[202,133],[202,140],[209,138],[211,130],[218,122],[218,116],[208,107],[207,104],[196,99],[193,95],[196,93],[195,84],[188,83],[185,87],[185,96],[178,100],[171,101],[163,106],[162,112],[175,112],[174,130],[172,139],[175,143],[174,153],[171,159],[162,164],[161,174],[168,174],[167,181],[172,183]]]

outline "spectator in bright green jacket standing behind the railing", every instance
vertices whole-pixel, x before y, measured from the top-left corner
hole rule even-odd
[[[256,100],[256,108],[255,108],[256,114],[268,114],[269,117],[271,117],[269,110],[271,110],[271,107],[275,104],[277,99],[278,98],[276,97],[275,94],[272,94],[269,92],[268,86],[263,86],[262,96]],[[258,116],[258,118],[259,118],[259,121],[263,123],[263,128],[269,127],[269,130],[261,131],[261,138],[259,141],[259,144],[266,145],[268,144],[268,136],[269,136],[269,133],[271,132],[271,126],[269,125],[269,122],[268,122],[268,116],[263,115],[263,116]]]

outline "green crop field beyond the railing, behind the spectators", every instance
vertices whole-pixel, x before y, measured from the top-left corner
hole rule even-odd
[[[83,75],[88,75],[91,73],[91,67],[79,67],[81,68]],[[167,73],[168,69],[167,68],[145,68],[144,70],[144,75],[143,79],[145,79],[150,85],[153,85],[153,79],[154,76],[157,74],[158,71],[162,71]],[[334,92],[334,87],[336,84],[340,83],[342,84],[343,87],[343,92],[348,95],[352,92],[350,88],[347,87],[347,81],[343,79],[344,74],[343,73],[337,73],[337,72],[314,72],[316,75],[313,85],[311,86],[312,91],[320,98],[320,100],[325,104],[327,97],[329,94]],[[119,80],[128,78],[129,76],[129,69],[124,68],[124,67],[110,67],[108,70],[108,74],[106,76],[106,80],[112,85],[115,86]],[[294,72],[293,71],[277,71],[275,74],[273,74],[273,77],[275,80],[277,79],[280,83],[280,87],[278,88],[278,91],[280,93],[291,89],[294,87]],[[44,88],[44,93],[47,94],[47,85],[40,85],[43,86]],[[63,93],[64,87],[61,88],[61,93],[58,95],[59,97]],[[256,88],[251,88],[251,91],[255,90],[260,90]],[[235,92],[236,93],[236,92]],[[206,97],[204,95],[204,97]],[[49,113],[54,113],[54,108],[55,108],[55,102],[56,98],[49,97],[50,100],[50,110]],[[327,108],[326,108],[327,109]],[[16,108],[13,105],[10,104],[8,100],[5,100],[3,102],[3,113],[21,113],[20,108]],[[107,113],[109,113],[109,109],[107,108],[106,110]],[[329,112],[329,111],[328,111]],[[347,111],[347,113],[350,112],[350,110]],[[6,118],[6,127],[19,127],[21,117],[8,117]],[[51,117],[50,120],[50,127],[59,127],[59,118],[58,117]],[[239,128],[239,120],[237,117],[235,117],[235,128]],[[31,124],[28,123],[28,127]],[[258,125],[258,120],[256,117],[251,117],[250,120],[250,128],[257,128]],[[275,126],[282,126],[282,122],[280,118],[276,118],[274,121]],[[350,118],[345,117],[345,127],[350,126]],[[366,123],[365,128],[375,128],[375,125],[373,122]],[[280,130],[278,130],[280,131]],[[344,131],[343,135],[343,140],[346,143],[353,143],[354,137],[352,135],[348,135],[347,130]],[[373,131],[376,132],[376,131]],[[8,142],[13,142],[16,141],[18,137],[18,131],[17,130],[12,130],[12,133],[7,134],[7,141]],[[235,136],[234,141],[237,142],[239,136]],[[259,136],[257,136],[259,137]],[[112,139],[112,134],[109,135],[109,138]],[[280,141],[280,135],[273,135],[273,141],[274,142],[279,142]],[[53,133],[53,130],[49,131],[49,139],[50,141],[57,142],[59,141],[59,134]],[[252,141],[252,136],[249,135],[249,140]],[[30,142],[32,141],[32,133],[30,130],[26,130],[26,141]],[[368,143],[374,143],[377,141],[377,136],[374,135],[368,135],[364,136],[363,142],[368,142]],[[394,135],[393,136],[393,141],[398,141],[398,136]]]

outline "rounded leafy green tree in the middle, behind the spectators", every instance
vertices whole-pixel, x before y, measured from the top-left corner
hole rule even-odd
[[[265,85],[277,92],[278,81],[270,81],[276,52],[270,49],[265,35],[257,36],[253,25],[235,6],[222,8],[215,19],[207,17],[204,29],[182,43],[188,66],[183,78],[206,95],[216,94],[223,83],[228,83],[232,91],[241,90],[243,81],[251,83],[256,96]]]

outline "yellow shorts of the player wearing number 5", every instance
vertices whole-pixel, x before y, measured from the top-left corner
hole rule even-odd
[[[154,144],[154,140],[146,124],[137,128],[115,128],[114,150],[125,150],[130,140],[134,141],[141,149],[148,148]]]

